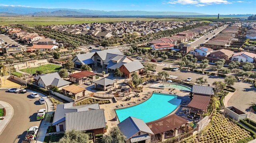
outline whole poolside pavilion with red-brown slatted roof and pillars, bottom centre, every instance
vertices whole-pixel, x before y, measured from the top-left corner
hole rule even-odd
[[[164,139],[186,132],[189,121],[176,114],[172,114],[146,124],[153,131],[154,135],[158,137],[158,141],[162,142]]]

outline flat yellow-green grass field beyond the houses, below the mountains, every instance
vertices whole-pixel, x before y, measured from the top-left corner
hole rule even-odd
[[[10,24],[26,24],[29,26],[35,25],[60,25],[60,24],[82,24],[92,22],[121,22],[121,21],[178,21],[184,20],[203,20],[203,19],[216,19],[216,17],[184,17],[184,18],[79,18],[79,17],[33,17],[33,16],[0,16],[0,25]],[[220,19],[231,17],[220,17]],[[210,21],[204,21],[210,22]]]

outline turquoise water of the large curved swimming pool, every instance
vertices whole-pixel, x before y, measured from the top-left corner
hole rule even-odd
[[[173,112],[181,100],[177,96],[170,94],[153,93],[145,102],[136,106],[116,109],[119,121],[123,121],[129,116],[142,119],[144,122],[154,121]]]

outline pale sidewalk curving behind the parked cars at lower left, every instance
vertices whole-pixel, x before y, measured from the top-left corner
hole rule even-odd
[[[35,92],[32,90],[27,90],[28,92]],[[44,120],[42,121],[42,123],[40,124],[39,127],[39,132],[37,134],[36,137],[36,143],[43,143],[44,142],[44,137],[46,135],[47,129],[50,125],[52,125],[52,123],[50,123],[51,117],[52,117],[52,113],[54,112],[53,110],[53,104],[50,100],[50,98],[48,98],[48,96],[45,96],[42,93],[39,92],[35,92],[37,93],[41,98],[44,98],[45,100],[45,104],[46,104],[46,117],[44,118]]]

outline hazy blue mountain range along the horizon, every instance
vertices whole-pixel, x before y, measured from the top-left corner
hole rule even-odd
[[[196,12],[103,11],[67,8],[0,6],[0,16],[196,16]]]

